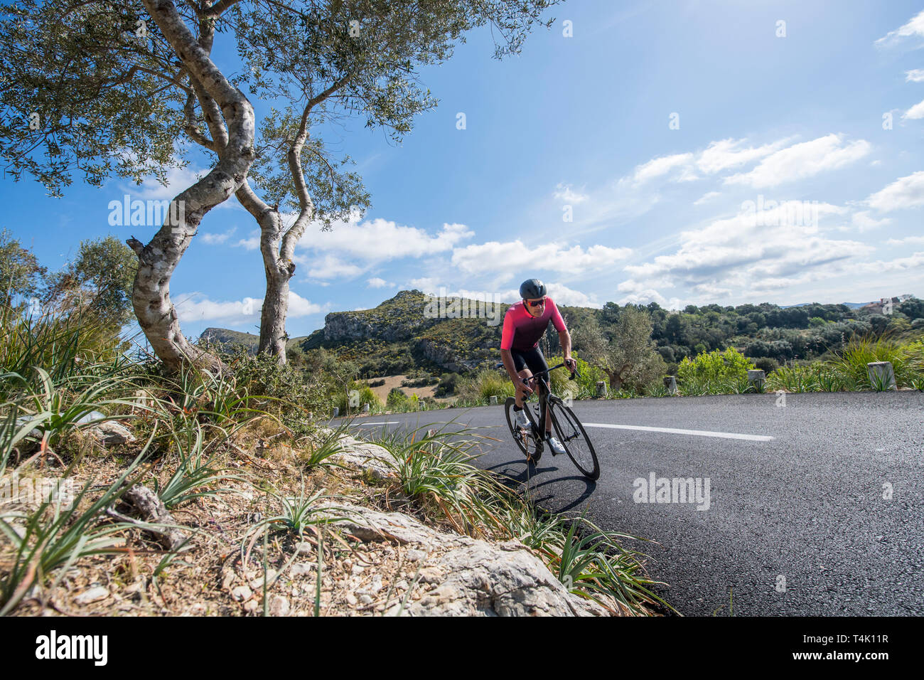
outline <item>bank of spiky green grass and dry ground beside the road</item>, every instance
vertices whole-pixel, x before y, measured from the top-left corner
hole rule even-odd
[[[122,609],[110,613],[268,613],[295,587],[287,570],[306,551],[314,568],[299,578],[311,612],[343,613],[333,575],[363,553],[334,521],[358,504],[476,538],[517,538],[571,591],[613,612],[670,611],[651,591],[644,555],[626,547],[634,538],[535,507],[473,464],[477,433],[386,435],[393,476],[346,470],[335,457],[346,425],[319,427],[311,409],[322,413],[359,383],[324,355],[297,367],[225,352],[226,373],[170,373],[89,304],[56,300],[40,315],[26,304],[0,308],[0,485],[76,483],[73,502],[0,498],[0,614],[82,612],[75,596],[101,582],[121,594]],[[398,394],[376,408],[415,400]],[[128,438],[104,443],[103,426]],[[170,514],[140,513],[138,489]],[[240,595],[245,586],[218,585],[237,573],[261,584],[246,586],[252,599]],[[370,612],[400,608],[405,595],[390,593]]]

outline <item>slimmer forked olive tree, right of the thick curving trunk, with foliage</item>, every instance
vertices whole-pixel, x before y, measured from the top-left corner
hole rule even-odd
[[[517,52],[548,0],[274,0],[234,8],[243,60],[240,82],[264,100],[284,101],[261,124],[261,142],[237,200],[260,226],[266,275],[260,351],[286,361],[286,310],[295,247],[310,225],[330,229],[369,194],[356,173],[334,161],[312,126],[359,115],[399,142],[436,100],[418,82],[421,65],[452,55],[466,31],[497,28],[495,56]],[[202,103],[202,111],[210,108]],[[209,147],[209,140],[200,139]],[[280,207],[282,206],[282,207]],[[286,219],[286,208],[289,215]]]

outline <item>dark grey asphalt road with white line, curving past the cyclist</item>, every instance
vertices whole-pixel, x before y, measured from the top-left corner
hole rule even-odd
[[[596,482],[548,448],[528,469],[503,406],[373,416],[354,427],[456,418],[487,428],[500,441],[485,447],[480,466],[528,485],[550,510],[586,508],[604,528],[657,541],[634,547],[650,555],[650,575],[668,584],[659,593],[686,615],[728,615],[730,595],[736,616],[924,614],[921,392],[787,394],[785,405],[775,394],[633,399],[574,409],[600,459]],[[700,502],[642,501],[636,489],[649,488],[651,474],[699,479]]]

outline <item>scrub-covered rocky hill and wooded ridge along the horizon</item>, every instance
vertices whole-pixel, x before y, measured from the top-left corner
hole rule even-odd
[[[911,296],[893,298],[896,309],[906,297]],[[399,291],[373,309],[331,312],[324,317],[323,328],[307,337],[288,340],[287,347],[290,351],[322,348],[334,352],[342,360],[356,362],[365,377],[407,375],[421,369],[435,374],[466,372],[499,360],[503,319],[509,306],[485,305],[466,298],[434,298],[417,290]],[[590,319],[596,319],[602,326],[612,326],[619,305],[607,303],[602,309],[558,307],[579,351],[582,329],[587,328]],[[682,313],[673,313],[655,304],[650,306],[651,339],[669,365],[675,365],[685,356],[727,346],[736,346],[742,352],[750,348],[750,355],[756,357],[778,356],[781,361],[805,359],[812,352],[822,352],[833,342],[842,341],[845,332],[848,336],[855,331],[869,332],[873,328],[869,318],[882,315],[879,301],[787,307],[748,303],[737,305],[733,312],[710,304],[692,312],[687,308]],[[919,304],[906,309],[913,323],[924,316],[922,309]],[[816,316],[826,323],[810,323]],[[206,328],[201,337],[242,345],[249,352],[256,352],[259,342],[252,333],[225,328]],[[560,352],[557,334],[546,333],[545,339],[548,341],[545,350]]]

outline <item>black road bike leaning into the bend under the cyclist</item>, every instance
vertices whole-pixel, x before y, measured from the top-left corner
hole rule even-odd
[[[498,367],[503,364],[498,365]],[[505,413],[507,416],[507,425],[510,427],[510,434],[513,435],[514,441],[520,451],[526,454],[527,461],[536,464],[542,455],[542,449],[545,439],[545,419],[552,419],[552,427],[555,436],[562,442],[568,458],[577,465],[583,476],[588,479],[596,479],[600,476],[600,464],[597,462],[597,452],[593,450],[593,444],[580,424],[577,415],[565,402],[552,392],[549,381],[546,379],[550,371],[556,368],[563,368],[565,364],[559,364],[552,368],[547,368],[533,375],[531,378],[522,378],[524,383],[530,381],[537,385],[538,389],[534,392],[538,394],[538,403],[529,403],[529,396],[523,401],[523,411],[529,420],[529,427],[518,427],[517,419],[514,414],[514,406],[517,401],[513,397],[508,397],[505,402]],[[577,370],[571,374],[571,377],[579,377]],[[530,395],[531,396],[531,395]],[[552,451],[555,455],[555,452]]]

